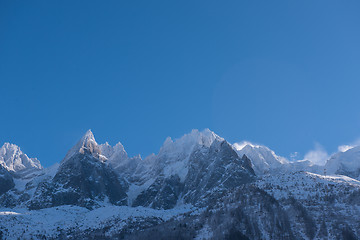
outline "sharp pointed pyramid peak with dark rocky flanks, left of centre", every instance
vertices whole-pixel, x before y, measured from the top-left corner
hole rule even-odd
[[[92,133],[87,132],[66,155],[51,182],[39,185],[29,207],[78,205],[91,208],[105,199],[114,205],[124,205],[127,188],[126,182],[105,164]]]

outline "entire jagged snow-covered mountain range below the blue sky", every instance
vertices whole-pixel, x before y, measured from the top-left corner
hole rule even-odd
[[[0,239],[358,239],[359,152],[321,167],[205,129],[142,159],[89,130],[42,169],[5,144]]]

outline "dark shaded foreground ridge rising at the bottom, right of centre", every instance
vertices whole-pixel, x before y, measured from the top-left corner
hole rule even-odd
[[[194,238],[296,239],[279,202],[248,184],[224,194],[199,215],[188,214],[124,236],[132,240]]]

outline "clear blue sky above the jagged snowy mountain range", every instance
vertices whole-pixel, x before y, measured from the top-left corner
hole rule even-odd
[[[210,128],[278,154],[360,137],[359,1],[0,2],[0,143],[130,155]]]

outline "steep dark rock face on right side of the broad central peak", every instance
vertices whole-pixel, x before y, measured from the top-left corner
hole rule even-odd
[[[240,158],[226,141],[214,141],[208,149],[192,153],[185,180],[184,201],[192,204],[207,202],[223,192],[249,183],[255,178],[249,159]]]

